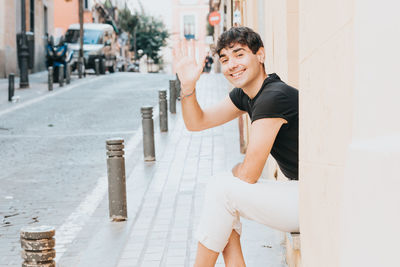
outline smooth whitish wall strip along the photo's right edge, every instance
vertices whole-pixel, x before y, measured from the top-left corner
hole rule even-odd
[[[398,266],[398,1],[355,0],[353,138],[347,150],[339,266]]]

